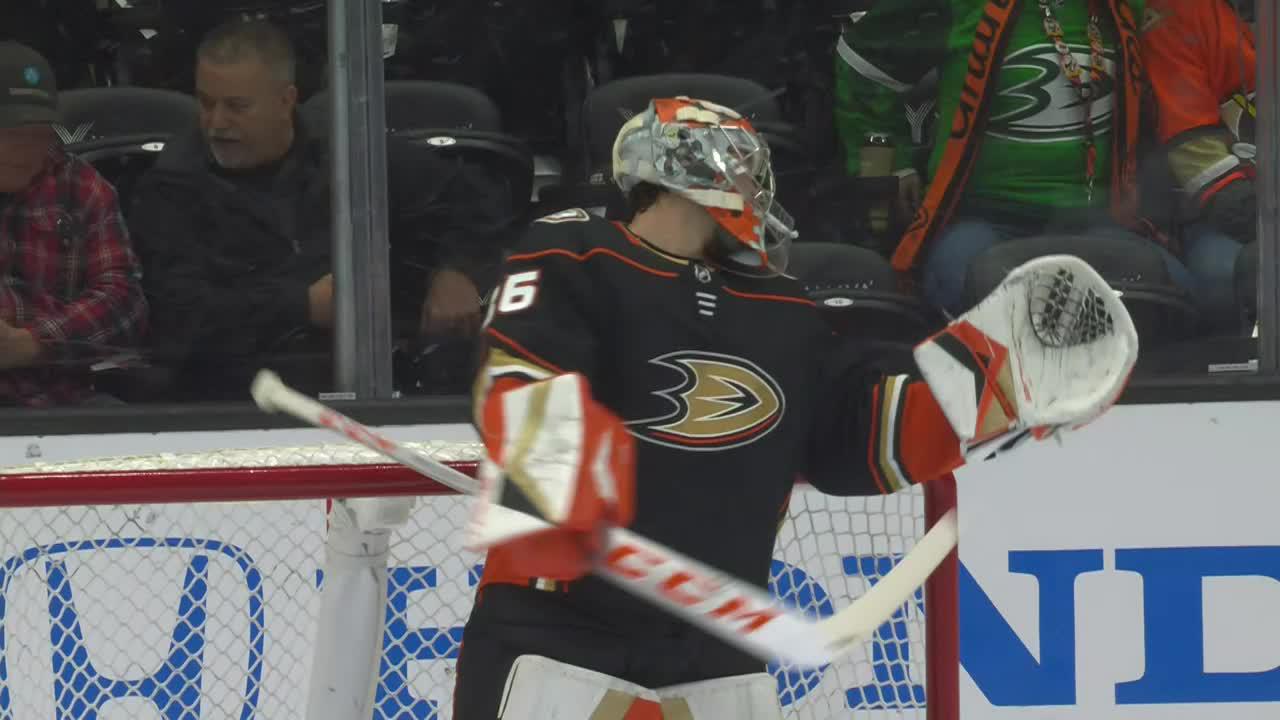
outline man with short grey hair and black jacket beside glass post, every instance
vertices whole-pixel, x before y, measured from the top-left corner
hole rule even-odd
[[[242,398],[268,355],[330,346],[329,147],[296,111],[294,65],[287,36],[269,23],[211,31],[197,49],[200,128],[170,142],[134,193],[131,224],[150,275],[156,352],[177,366],[178,391],[188,397]],[[425,151],[389,147],[388,158],[393,219],[439,215],[442,206],[452,213],[449,222],[433,220],[434,245],[420,263],[428,266],[393,281],[397,300],[419,288],[410,307],[397,304],[399,315],[421,318],[425,333],[474,334],[480,293],[472,275],[486,249],[494,261],[498,251],[467,232],[483,224],[474,206],[484,199],[449,182]],[[452,229],[436,232],[442,223]],[[421,245],[417,232],[392,223],[401,245]],[[326,356],[310,368],[308,377],[288,379],[326,388]]]

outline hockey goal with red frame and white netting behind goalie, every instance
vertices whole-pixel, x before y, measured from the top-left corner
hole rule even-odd
[[[408,445],[468,474],[480,452]],[[392,539],[374,717],[448,720],[483,557],[462,550],[466,502],[444,486],[349,445],[3,473],[0,720],[300,717],[325,498],[403,495],[419,501]],[[951,479],[870,498],[797,487],[772,589],[829,615],[954,506]],[[955,557],[864,648],[817,670],[769,665],[786,717],[959,717]]]

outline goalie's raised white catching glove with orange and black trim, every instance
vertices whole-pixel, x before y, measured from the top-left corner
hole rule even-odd
[[[1078,429],[1120,397],[1138,333],[1083,260],[1038,258],[915,348],[966,460]]]

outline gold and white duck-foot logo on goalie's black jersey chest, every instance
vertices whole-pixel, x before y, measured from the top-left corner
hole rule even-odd
[[[675,411],[628,423],[637,437],[681,450],[728,450],[767,436],[786,409],[782,388],[754,363],[732,355],[680,351],[654,357],[682,382],[654,395]]]

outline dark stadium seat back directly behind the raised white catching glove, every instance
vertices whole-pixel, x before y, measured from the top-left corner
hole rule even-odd
[[[1174,284],[1164,256],[1148,242],[1117,237],[1044,234],[997,245],[969,265],[965,304],[975,305],[1009,270],[1044,255],[1075,255],[1106,278],[1121,293],[1144,350],[1194,334],[1199,311]]]

